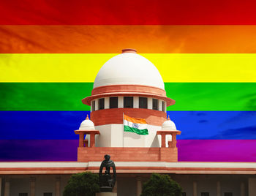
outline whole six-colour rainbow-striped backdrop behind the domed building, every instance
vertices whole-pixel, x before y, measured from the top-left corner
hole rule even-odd
[[[151,61],[176,104],[178,160],[256,162],[255,1],[3,1],[0,161],[75,161],[100,67]]]

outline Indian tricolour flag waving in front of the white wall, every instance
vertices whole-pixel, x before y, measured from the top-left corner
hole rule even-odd
[[[124,132],[148,135],[148,124],[143,118],[132,118],[124,114]]]

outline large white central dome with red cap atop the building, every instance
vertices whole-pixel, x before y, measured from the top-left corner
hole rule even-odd
[[[99,69],[94,81],[94,88],[108,85],[134,84],[165,89],[165,84],[157,67],[148,59],[131,51],[132,49],[124,49],[123,53],[108,60]]]

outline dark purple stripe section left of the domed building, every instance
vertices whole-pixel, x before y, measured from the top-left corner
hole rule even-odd
[[[76,161],[78,140],[0,140],[1,162]]]

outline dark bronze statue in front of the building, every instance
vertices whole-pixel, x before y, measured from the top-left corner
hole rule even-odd
[[[110,155],[104,156],[105,160],[99,167],[99,188],[101,192],[112,192],[116,183],[116,166],[115,163],[110,160]],[[105,174],[102,175],[103,167],[106,168]],[[110,167],[113,169],[113,176],[110,175]]]

